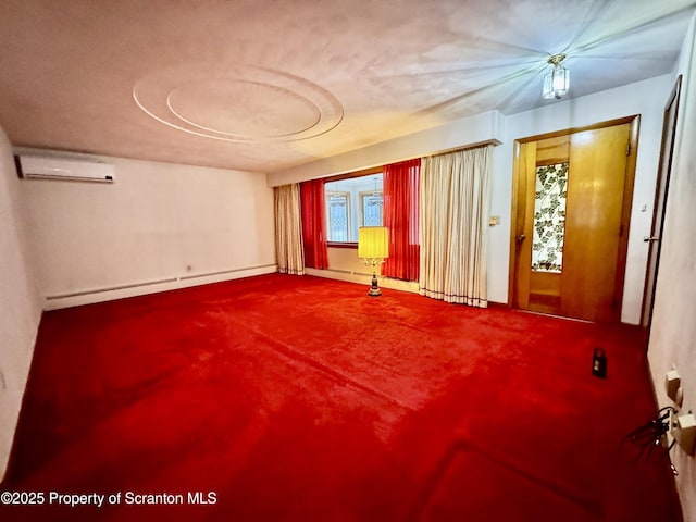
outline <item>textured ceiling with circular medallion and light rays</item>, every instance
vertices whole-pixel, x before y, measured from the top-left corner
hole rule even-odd
[[[16,146],[274,172],[672,71],[693,0],[3,0]]]

